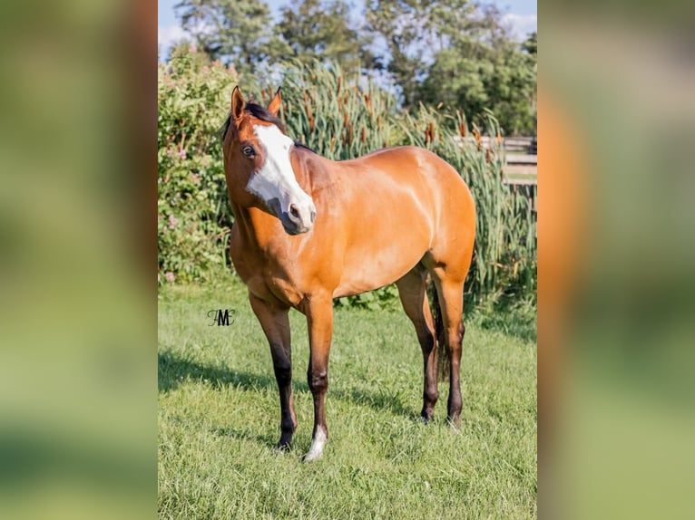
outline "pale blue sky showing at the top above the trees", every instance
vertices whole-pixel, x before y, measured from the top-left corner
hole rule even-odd
[[[157,41],[162,45],[162,56],[169,53],[171,43],[184,39],[186,33],[181,29],[173,6],[180,0],[159,0],[157,19]],[[278,16],[282,5],[288,5],[291,0],[265,0],[270,6],[270,12]],[[523,40],[526,34],[538,30],[538,8],[536,0],[482,0],[484,4],[496,4],[506,13],[506,21],[512,26],[514,36]],[[355,3],[357,7],[362,2]]]

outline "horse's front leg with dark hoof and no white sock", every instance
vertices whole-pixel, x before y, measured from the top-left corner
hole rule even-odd
[[[275,379],[280,394],[280,439],[278,448],[288,449],[297,429],[292,400],[292,352],[289,346],[289,308],[271,305],[249,293],[253,312],[270,344]]]

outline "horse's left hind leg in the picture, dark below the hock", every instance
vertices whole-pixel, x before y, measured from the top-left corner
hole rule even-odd
[[[396,282],[403,310],[415,325],[417,340],[420,342],[423,357],[424,390],[420,415],[425,420],[432,419],[438,392],[436,388],[436,341],[432,312],[427,303],[426,269],[416,265],[408,274]]]

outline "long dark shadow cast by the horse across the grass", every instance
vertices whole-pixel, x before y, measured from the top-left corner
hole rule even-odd
[[[260,376],[249,372],[231,371],[222,366],[201,364],[172,352],[160,352],[157,356],[157,387],[160,392],[176,390],[186,380],[206,380],[213,388],[228,385],[241,390],[261,390],[278,388],[275,377]],[[306,382],[293,381],[294,391],[308,392]],[[329,399],[346,400],[353,404],[381,409],[394,415],[411,419],[419,416],[413,409],[406,408],[401,400],[386,391],[369,392],[362,389],[329,389]]]

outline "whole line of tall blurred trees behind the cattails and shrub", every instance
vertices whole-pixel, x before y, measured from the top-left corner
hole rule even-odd
[[[176,9],[201,50],[233,64],[244,87],[277,78],[277,66],[292,60],[339,63],[386,72],[408,111],[443,102],[483,124],[491,110],[505,135],[536,133],[537,34],[514,42],[495,5],[368,0],[361,25],[346,0],[286,5],[276,24],[263,0],[181,0]]]

